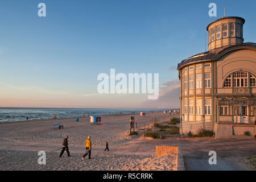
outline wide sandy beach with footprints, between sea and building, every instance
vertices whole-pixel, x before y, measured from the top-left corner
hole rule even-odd
[[[101,125],[91,125],[89,118],[47,119],[0,123],[0,170],[176,170],[176,155],[155,157],[151,154],[121,154],[119,148],[140,136],[127,137],[130,131],[130,116],[142,123],[152,118],[168,117],[164,113],[104,115]],[[52,125],[64,126],[60,130]],[[64,137],[69,136],[68,158],[64,152],[59,158]],[[92,140],[92,159],[81,160],[85,152],[85,141]],[[143,140],[143,139],[142,139]],[[105,141],[110,151],[104,151]],[[46,165],[38,164],[38,151],[46,151]]]

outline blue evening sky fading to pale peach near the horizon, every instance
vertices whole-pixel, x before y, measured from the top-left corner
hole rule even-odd
[[[205,51],[206,27],[224,5],[245,19],[245,42],[256,42],[254,0],[1,0],[0,107],[178,108],[177,64]],[[97,76],[110,69],[159,73],[158,99],[99,94]]]

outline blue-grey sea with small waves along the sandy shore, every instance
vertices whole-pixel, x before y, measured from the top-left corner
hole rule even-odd
[[[34,119],[50,119],[53,115],[57,118],[82,117],[89,115],[131,114],[151,111],[164,111],[168,109],[57,109],[57,108],[22,108],[0,107],[0,122],[23,121]]]

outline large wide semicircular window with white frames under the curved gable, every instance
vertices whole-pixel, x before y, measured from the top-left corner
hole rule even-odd
[[[253,75],[249,74],[247,72],[234,72],[230,74],[228,77],[226,77],[226,80],[224,81],[223,86],[225,88],[229,87],[248,87],[248,80],[250,79],[250,87],[256,86],[256,80]]]

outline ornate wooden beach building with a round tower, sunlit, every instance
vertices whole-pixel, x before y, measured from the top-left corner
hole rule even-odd
[[[209,51],[178,64],[182,134],[255,135],[256,43],[243,43],[244,23],[237,16],[210,23]]]

